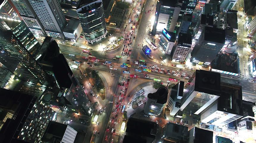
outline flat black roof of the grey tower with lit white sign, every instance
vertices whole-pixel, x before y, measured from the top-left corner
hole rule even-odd
[[[204,40],[214,43],[225,44],[225,30],[213,27],[205,27]]]

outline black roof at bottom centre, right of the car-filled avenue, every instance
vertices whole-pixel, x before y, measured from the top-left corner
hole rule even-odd
[[[126,135],[131,138],[146,139],[153,142],[156,136],[157,123],[141,120],[135,118],[129,118],[126,126]],[[143,141],[143,140],[142,140]]]

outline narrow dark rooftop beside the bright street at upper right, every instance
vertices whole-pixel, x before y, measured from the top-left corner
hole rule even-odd
[[[227,27],[238,29],[237,11],[228,9],[226,12],[226,17],[227,17]]]

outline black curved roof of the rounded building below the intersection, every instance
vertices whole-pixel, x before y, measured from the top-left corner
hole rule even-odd
[[[148,98],[157,100],[159,104],[165,104],[167,102],[168,89],[166,87],[160,87],[155,93],[149,93]]]

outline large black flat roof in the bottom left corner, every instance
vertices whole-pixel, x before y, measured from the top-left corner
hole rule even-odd
[[[13,118],[8,118],[0,130],[0,142],[18,141],[16,138],[37,98],[32,95],[3,88],[0,88],[0,93],[0,109],[13,113]]]

